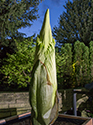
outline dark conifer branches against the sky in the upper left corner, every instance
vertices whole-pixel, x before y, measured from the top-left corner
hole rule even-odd
[[[0,39],[14,37],[21,27],[31,26],[39,16],[38,5],[42,0],[1,0]]]

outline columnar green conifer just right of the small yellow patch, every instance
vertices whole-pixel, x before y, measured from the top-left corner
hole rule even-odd
[[[75,64],[76,86],[83,87],[89,83],[89,48],[83,42],[76,41],[74,44],[73,63]]]

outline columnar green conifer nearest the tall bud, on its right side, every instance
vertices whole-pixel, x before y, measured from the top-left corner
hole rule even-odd
[[[56,51],[57,81],[59,87],[72,87],[72,46],[67,43],[61,47],[61,51]]]

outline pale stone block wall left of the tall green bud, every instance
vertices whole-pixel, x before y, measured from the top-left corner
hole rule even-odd
[[[31,111],[28,92],[0,93],[0,118]]]

